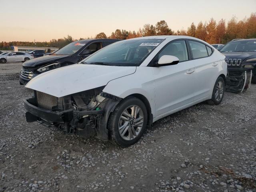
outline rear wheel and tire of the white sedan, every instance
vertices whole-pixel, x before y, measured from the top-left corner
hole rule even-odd
[[[224,93],[225,93],[225,82],[224,79],[219,76],[214,84],[214,88],[212,91],[212,98],[207,100],[206,102],[210,105],[218,105],[221,103]]]

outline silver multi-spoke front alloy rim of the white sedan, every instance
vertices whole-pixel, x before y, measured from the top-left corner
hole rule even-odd
[[[127,107],[121,114],[118,122],[120,136],[124,140],[133,140],[140,134],[144,123],[144,115],[137,105]]]

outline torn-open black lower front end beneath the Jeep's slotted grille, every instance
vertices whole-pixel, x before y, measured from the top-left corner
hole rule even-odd
[[[226,91],[241,93],[248,91],[252,80],[252,70],[247,68],[228,68]]]

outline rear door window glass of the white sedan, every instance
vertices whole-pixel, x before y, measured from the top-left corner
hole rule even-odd
[[[208,52],[206,50],[206,45],[196,41],[188,41],[191,47],[192,55],[194,59],[207,57]]]

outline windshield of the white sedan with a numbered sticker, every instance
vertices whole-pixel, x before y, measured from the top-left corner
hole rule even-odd
[[[163,39],[123,40],[110,44],[82,60],[84,64],[102,64],[112,66],[140,66],[147,56]]]

